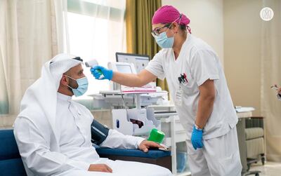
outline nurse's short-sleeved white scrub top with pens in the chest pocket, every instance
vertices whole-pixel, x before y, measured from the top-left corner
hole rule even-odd
[[[166,78],[188,140],[191,138],[192,126],[195,124],[200,97],[199,86],[208,79],[214,80],[216,99],[214,109],[204,127],[203,139],[225,135],[235,127],[238,119],[218,55],[201,39],[190,34],[176,60],[172,48],[160,50],[145,69],[159,79]],[[178,77],[181,74],[185,74],[187,80],[180,85]],[[180,92],[178,91],[180,86],[182,94],[176,96],[176,93]]]

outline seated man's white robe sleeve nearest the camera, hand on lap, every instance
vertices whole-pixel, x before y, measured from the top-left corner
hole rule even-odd
[[[14,134],[22,161],[35,175],[54,175],[73,168],[89,169],[90,163],[75,161],[59,152],[50,151],[49,144],[29,119],[16,119]]]

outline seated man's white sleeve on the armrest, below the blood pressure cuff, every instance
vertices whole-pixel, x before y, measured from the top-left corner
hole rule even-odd
[[[132,135],[123,135],[117,130],[110,129],[105,141],[100,147],[122,148],[122,149],[138,149],[138,146],[145,138]]]

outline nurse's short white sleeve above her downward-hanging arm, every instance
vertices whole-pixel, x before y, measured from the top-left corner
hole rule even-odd
[[[211,50],[196,51],[190,59],[190,69],[197,86],[201,86],[208,79],[219,79],[218,62],[216,54]]]

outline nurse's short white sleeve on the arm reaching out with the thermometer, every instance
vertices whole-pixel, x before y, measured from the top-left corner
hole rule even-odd
[[[157,76],[158,79],[164,80],[165,78],[165,74],[164,74],[164,69],[163,69],[163,52],[162,50],[159,51],[159,53],[157,53],[152,60],[150,60],[150,62],[148,63],[148,66],[145,67],[146,70],[148,70],[148,72],[154,74],[155,76]]]

